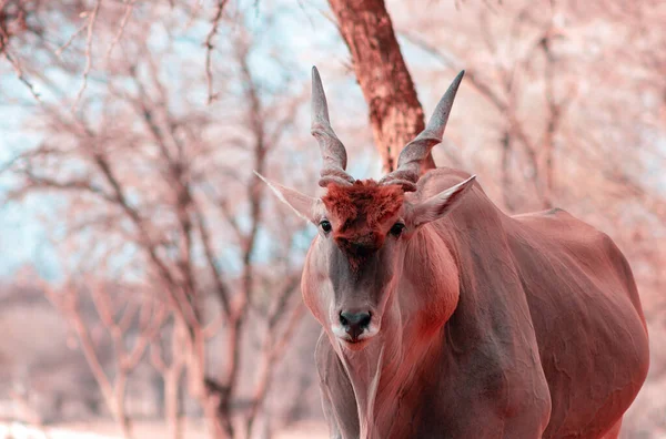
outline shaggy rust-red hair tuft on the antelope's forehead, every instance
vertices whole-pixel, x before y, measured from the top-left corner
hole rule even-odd
[[[351,186],[330,184],[322,198],[340,226],[335,239],[349,249],[373,249],[382,246],[382,222],[397,214],[404,192],[400,186],[381,186],[373,180],[356,181]],[[354,252],[355,253],[355,252]]]

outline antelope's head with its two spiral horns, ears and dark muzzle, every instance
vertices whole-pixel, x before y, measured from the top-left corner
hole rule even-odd
[[[317,227],[305,259],[303,298],[330,338],[347,349],[362,349],[381,334],[411,239],[451,212],[473,185],[474,176],[426,200],[407,196],[418,190],[422,161],[442,142],[463,74],[455,78],[426,129],[403,149],[397,169],[375,182],[346,173],[345,147],[331,127],[324,89],[313,68],[312,135],[323,157],[319,185],[326,193],[315,198],[262,177],[281,201]],[[433,303],[420,306],[445,309],[440,299],[432,297]],[[437,318],[445,321],[452,312]]]

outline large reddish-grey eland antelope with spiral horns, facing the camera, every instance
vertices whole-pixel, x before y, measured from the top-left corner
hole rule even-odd
[[[346,174],[313,69],[313,198],[279,197],[319,227],[303,298],[332,438],[616,438],[648,368],[627,261],[559,210],[507,216],[474,176],[421,163],[463,73],[380,182]]]

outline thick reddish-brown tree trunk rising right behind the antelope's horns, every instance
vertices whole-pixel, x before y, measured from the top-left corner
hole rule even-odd
[[[352,54],[384,172],[393,171],[403,146],[425,125],[384,0],[329,0],[329,3]],[[422,172],[435,167],[432,155],[428,154],[422,167]]]

